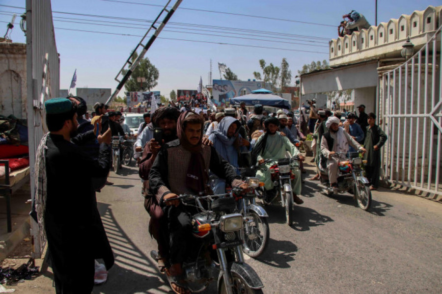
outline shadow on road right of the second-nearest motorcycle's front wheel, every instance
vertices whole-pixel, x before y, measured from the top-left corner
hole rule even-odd
[[[297,251],[298,246],[291,241],[277,241],[270,238],[269,245],[257,260],[271,267],[289,268],[288,262],[295,260]]]

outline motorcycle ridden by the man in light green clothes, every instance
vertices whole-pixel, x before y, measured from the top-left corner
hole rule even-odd
[[[264,185],[255,189],[255,194],[263,200],[263,203],[270,205],[276,199],[281,201],[281,206],[285,208],[286,223],[291,226],[293,223],[293,195],[292,181],[296,179],[294,171],[299,169],[298,158],[282,158],[278,160],[264,160],[263,163],[274,162],[270,166],[270,174],[274,188],[266,191]],[[271,193],[275,192],[275,195]],[[270,194],[270,195],[269,195]],[[271,197],[268,199],[268,195]],[[279,196],[279,197],[278,197]]]

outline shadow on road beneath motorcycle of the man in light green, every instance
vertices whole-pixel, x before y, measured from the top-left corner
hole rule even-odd
[[[285,223],[285,208],[276,204],[265,206],[269,214],[270,223]],[[294,218],[292,228],[296,231],[308,231],[310,227],[322,226],[326,222],[333,221],[330,216],[320,214],[314,209],[296,205],[293,208]]]

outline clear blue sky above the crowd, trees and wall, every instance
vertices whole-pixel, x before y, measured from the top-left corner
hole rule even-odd
[[[166,0],[121,0],[128,2],[165,5]],[[172,0],[171,3],[175,1]],[[272,62],[279,66],[283,57],[287,58],[293,77],[303,64],[323,59],[328,60],[328,40],[336,38],[337,25],[342,15],[352,9],[364,14],[370,24],[375,23],[375,1],[344,0],[184,0],[180,8],[195,8],[217,12],[248,14],[276,19],[293,20],[300,22],[317,23],[322,25],[303,24],[297,22],[279,21],[263,18],[251,18],[237,15],[227,15],[212,12],[178,9],[166,25],[146,56],[159,69],[160,79],[158,86],[152,90],[161,91],[166,97],[172,89],[196,89],[199,77],[203,83],[208,83],[210,59],[213,62],[213,79],[219,79],[218,63],[225,63],[238,75],[241,80],[253,79],[252,73],[260,71],[258,60],[263,58],[267,63]],[[25,0],[0,0],[0,4],[25,7]],[[411,14],[414,10],[424,10],[428,5],[442,5],[442,0],[379,0],[378,23],[387,22],[391,18],[399,18],[401,14]],[[74,70],[77,69],[77,87],[112,88],[117,82],[114,77],[129,57],[131,50],[138,44],[140,37],[70,31],[60,28],[112,32],[117,34],[143,35],[146,29],[125,28],[134,25],[110,24],[108,22],[137,23],[134,21],[116,20],[109,18],[92,18],[86,16],[60,14],[57,12],[82,13],[125,17],[133,19],[153,20],[160,12],[160,7],[137,5],[130,3],[111,2],[104,0],[53,0],[55,38],[58,53],[60,53],[60,87],[68,88]],[[0,6],[0,34],[6,31],[6,23],[11,16],[9,12],[24,13],[22,9]],[[67,19],[71,18],[71,19]],[[14,42],[25,42],[25,36],[18,26],[17,18],[11,38]],[[88,20],[88,21],[86,21]],[[90,20],[100,20],[92,22]],[[71,22],[68,22],[71,21]],[[73,22],[89,22],[116,27],[79,24]],[[185,23],[187,26],[172,23]],[[139,23],[141,24],[141,23]],[[293,37],[247,32],[232,34],[231,30],[217,28],[218,32],[188,30],[192,34],[172,32],[166,30],[180,30],[194,28],[214,30],[207,27],[190,27],[189,25],[205,25],[216,27],[241,28],[257,31],[271,31],[285,34],[311,36]],[[2,27],[2,28],[1,28]],[[146,26],[147,27],[147,26]],[[224,32],[223,32],[224,31]],[[205,35],[198,34],[204,33]],[[196,33],[196,34],[195,34]],[[219,35],[235,36],[226,38]],[[238,38],[239,37],[239,38]],[[275,38],[269,38],[275,37]],[[318,38],[313,38],[318,37]],[[244,44],[249,46],[264,46],[277,49],[240,47],[200,42],[168,40],[162,38],[177,38],[216,43]],[[257,38],[249,40],[243,38]],[[283,39],[285,38],[285,39]],[[327,39],[321,39],[327,38]],[[272,40],[272,41],[263,41]],[[289,44],[283,42],[304,43],[315,46]],[[314,42],[312,42],[314,41]],[[280,50],[290,49],[292,51]],[[297,51],[294,51],[297,50]],[[302,51],[314,51],[302,52]],[[294,79],[292,79],[292,83]],[[120,92],[120,96],[123,93]]]

